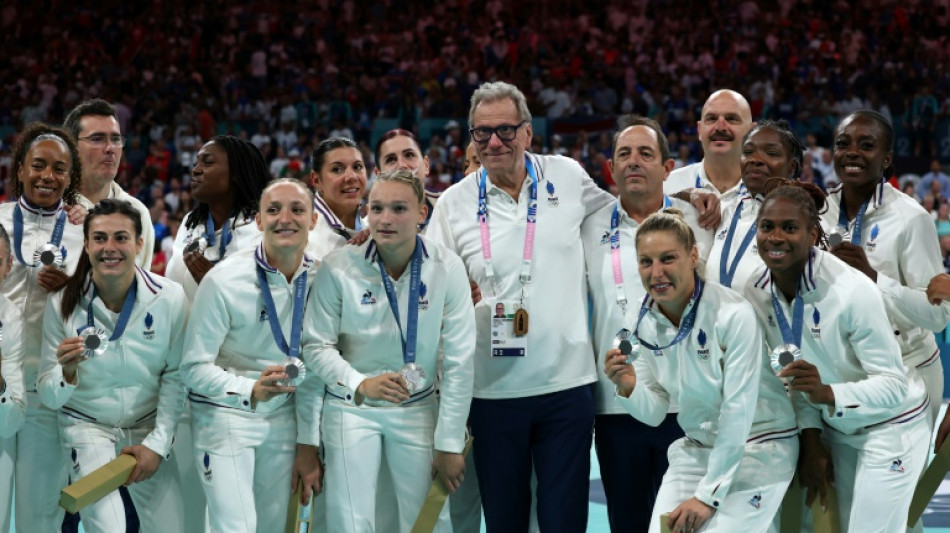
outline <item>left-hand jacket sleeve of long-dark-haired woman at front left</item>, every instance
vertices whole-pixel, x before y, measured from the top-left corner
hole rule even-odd
[[[62,294],[62,292],[56,293],[46,300],[46,308],[43,311],[43,347],[40,353],[39,377],[36,380],[40,401],[54,411],[65,405],[76,390],[76,385],[66,382],[66,378],[63,377],[63,367],[56,357],[59,343],[63,339],[76,336],[75,330],[68,331],[69,326],[64,323],[63,316],[59,312]],[[76,312],[74,309],[73,314]],[[82,379],[82,363],[79,363],[79,368],[76,370],[77,384],[80,379]]]

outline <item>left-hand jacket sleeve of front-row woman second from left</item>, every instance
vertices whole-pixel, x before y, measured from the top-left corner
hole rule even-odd
[[[195,293],[191,319],[185,329],[181,379],[189,390],[228,406],[251,410],[255,379],[235,376],[215,364],[231,329],[228,288],[217,276],[205,276]]]

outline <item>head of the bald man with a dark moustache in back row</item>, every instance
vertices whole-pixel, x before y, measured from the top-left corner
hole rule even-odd
[[[696,127],[706,157],[738,157],[742,138],[752,128],[752,111],[738,93],[718,91],[706,100]]]

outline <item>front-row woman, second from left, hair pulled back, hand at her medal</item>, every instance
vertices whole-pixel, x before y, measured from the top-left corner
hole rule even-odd
[[[305,502],[321,488],[323,386],[301,372],[299,358],[316,270],[305,254],[313,198],[301,182],[281,179],[260,202],[263,240],[205,275],[182,362],[214,532],[273,531],[299,480]]]

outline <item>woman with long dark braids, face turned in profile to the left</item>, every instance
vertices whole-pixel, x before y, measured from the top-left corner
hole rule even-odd
[[[191,169],[191,194],[198,202],[185,215],[175,236],[165,275],[185,289],[188,301],[214,265],[238,250],[252,248],[261,239],[254,222],[261,191],[270,174],[260,150],[253,144],[220,135],[205,143]],[[178,473],[185,501],[185,524],[205,524],[204,490],[195,469],[191,405],[185,405],[175,439]]]

